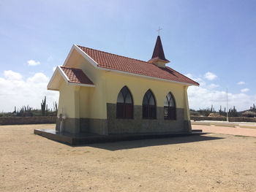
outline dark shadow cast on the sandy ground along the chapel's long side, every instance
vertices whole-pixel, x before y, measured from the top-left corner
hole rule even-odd
[[[124,141],[124,142],[105,142],[105,143],[97,143],[90,145],[77,145],[74,147],[97,147],[104,150],[126,150],[140,147],[151,147],[158,145],[173,145],[179,143],[187,143],[187,142],[203,142],[203,141],[211,141],[216,139],[225,139],[224,137],[209,137],[202,135],[195,135],[189,137],[168,137],[168,138],[160,138],[160,139],[141,139],[141,140],[132,140],[132,141]]]

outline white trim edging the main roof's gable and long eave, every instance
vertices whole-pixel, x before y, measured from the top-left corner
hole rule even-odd
[[[153,80],[160,80],[160,81],[166,81],[166,82],[174,82],[174,83],[178,83],[178,84],[181,84],[181,85],[187,85],[187,86],[191,86],[191,85],[194,85],[194,84],[191,84],[191,83],[187,83],[187,82],[178,82],[178,81],[173,81],[173,80],[165,80],[165,79],[162,79],[162,78],[159,78],[159,77],[151,77],[151,76],[146,76],[146,75],[143,75],[143,74],[135,74],[135,73],[131,73],[131,72],[124,72],[124,71],[120,71],[120,70],[116,70],[116,69],[108,69],[108,68],[104,68],[104,67],[99,67],[97,62],[94,61],[93,58],[91,58],[87,53],[85,53],[83,50],[80,49],[80,47],[78,47],[77,45],[72,45],[72,48],[69,52],[72,53],[72,50],[77,50],[78,53],[80,53],[83,58],[85,58],[87,61],[89,61],[90,64],[92,64],[96,69],[99,69],[99,70],[104,70],[104,71],[108,71],[108,72],[116,72],[116,73],[121,73],[121,74],[129,74],[129,75],[133,75],[133,76],[137,76],[137,77],[144,77],[144,78],[149,78],[149,79],[153,79]],[[67,56],[67,58],[69,58],[70,55]],[[67,64],[67,59],[66,61],[64,62],[64,66]],[[195,86],[199,86],[199,85],[195,85]]]

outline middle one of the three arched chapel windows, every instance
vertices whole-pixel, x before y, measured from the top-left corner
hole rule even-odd
[[[156,118],[156,101],[153,93],[148,90],[143,97],[143,118],[155,119]]]

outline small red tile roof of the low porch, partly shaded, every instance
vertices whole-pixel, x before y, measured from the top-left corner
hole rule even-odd
[[[91,82],[89,77],[87,77],[86,74],[84,74],[82,69],[69,68],[65,66],[61,66],[61,69],[67,75],[69,82],[94,85],[94,83]]]

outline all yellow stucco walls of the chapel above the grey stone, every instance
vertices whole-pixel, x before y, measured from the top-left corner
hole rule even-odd
[[[165,96],[170,91],[176,100],[176,107],[184,108],[184,120],[189,120],[186,85],[96,69],[79,53],[72,53],[66,66],[82,69],[94,82],[95,87],[67,85],[63,80],[59,88],[58,115],[63,107],[65,115],[69,118],[106,119],[106,104],[116,104],[119,91],[127,85],[135,105],[141,105],[144,94],[151,89],[157,107],[163,107]]]

